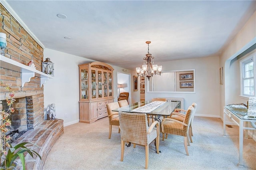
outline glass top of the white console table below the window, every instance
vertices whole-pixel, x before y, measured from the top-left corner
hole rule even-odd
[[[248,109],[244,103],[226,105],[224,107],[234,113],[239,119],[256,120],[256,117],[247,116]]]

